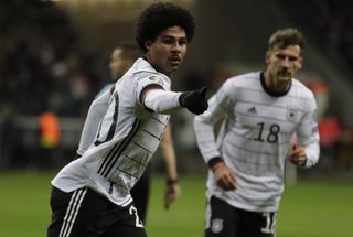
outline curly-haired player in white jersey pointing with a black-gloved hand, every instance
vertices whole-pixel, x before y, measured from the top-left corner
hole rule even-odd
[[[170,77],[193,35],[193,17],[180,6],[153,3],[141,12],[136,39],[143,58],[115,84],[93,144],[52,180],[49,237],[147,236],[130,190],[156,152],[170,115],[207,109],[205,88],[170,90]]]

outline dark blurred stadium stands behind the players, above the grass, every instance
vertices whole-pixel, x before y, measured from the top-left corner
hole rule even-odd
[[[0,169],[58,169],[74,158],[88,106],[110,80],[110,52],[133,39],[151,0],[12,0],[0,3]],[[353,3],[349,0],[175,1],[196,35],[173,89],[210,88],[265,68],[270,33],[306,36],[298,78],[319,107],[322,154],[314,172],[353,173]],[[204,173],[193,116],[172,117],[181,173]],[[157,155],[158,157],[158,155]],[[161,160],[153,165],[160,170]],[[307,172],[308,173],[308,172]]]

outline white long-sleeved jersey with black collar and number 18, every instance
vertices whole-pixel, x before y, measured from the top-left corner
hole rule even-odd
[[[290,139],[296,133],[308,157],[319,159],[317,104],[297,79],[284,95],[270,95],[260,72],[232,77],[195,117],[197,144],[206,162],[221,157],[236,173],[236,190],[223,191],[208,172],[207,194],[250,212],[276,212],[284,191]],[[224,118],[217,139],[214,125]]]

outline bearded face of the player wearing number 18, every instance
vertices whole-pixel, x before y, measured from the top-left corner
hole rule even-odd
[[[288,84],[302,66],[300,46],[275,47],[266,53],[267,71],[276,85]]]

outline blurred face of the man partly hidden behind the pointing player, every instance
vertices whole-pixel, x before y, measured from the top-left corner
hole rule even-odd
[[[131,65],[131,60],[122,57],[122,49],[115,49],[113,51],[109,68],[114,79],[120,78]]]

